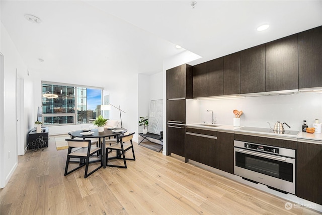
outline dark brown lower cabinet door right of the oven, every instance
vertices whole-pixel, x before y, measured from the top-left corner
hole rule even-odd
[[[297,142],[297,196],[322,204],[322,145]]]

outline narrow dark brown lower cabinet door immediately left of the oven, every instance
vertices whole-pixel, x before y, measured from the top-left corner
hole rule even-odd
[[[217,133],[218,169],[233,174],[233,133]]]

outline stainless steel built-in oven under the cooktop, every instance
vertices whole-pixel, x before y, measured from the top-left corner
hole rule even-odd
[[[295,194],[295,150],[234,140],[234,174]]]

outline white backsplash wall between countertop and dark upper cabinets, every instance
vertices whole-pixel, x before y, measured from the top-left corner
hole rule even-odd
[[[244,99],[200,101],[201,122],[211,123],[211,113],[214,111],[217,124],[232,125],[234,109],[243,110],[240,117],[240,126],[273,127],[275,122],[286,122],[286,130],[300,130],[303,120],[312,126],[315,119],[322,122],[322,94],[298,93],[292,95],[274,95],[245,97]]]

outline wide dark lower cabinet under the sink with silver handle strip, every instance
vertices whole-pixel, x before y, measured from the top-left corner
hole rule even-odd
[[[191,128],[186,131],[186,159],[217,168],[216,132]]]

